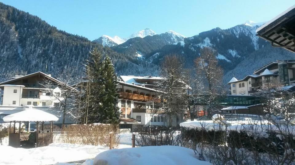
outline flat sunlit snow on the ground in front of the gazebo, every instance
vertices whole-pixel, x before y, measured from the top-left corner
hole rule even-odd
[[[119,148],[130,148],[119,145]],[[32,149],[13,148],[0,145],[0,164],[54,164],[93,159],[97,154],[109,150],[103,146],[53,143]]]

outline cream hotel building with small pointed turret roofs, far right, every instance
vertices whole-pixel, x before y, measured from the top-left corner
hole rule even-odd
[[[295,60],[277,60],[247,75],[244,79],[232,78],[230,85],[231,95],[256,95],[259,89],[267,83],[284,85],[284,88],[293,88],[295,84]]]

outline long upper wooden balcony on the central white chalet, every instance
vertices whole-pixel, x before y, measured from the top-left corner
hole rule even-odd
[[[140,94],[132,94],[132,93],[127,93],[127,92],[118,92],[119,93],[119,98],[124,98],[128,100],[134,100],[134,101],[155,101],[155,102],[160,102],[159,98],[151,97],[151,96],[144,96]]]

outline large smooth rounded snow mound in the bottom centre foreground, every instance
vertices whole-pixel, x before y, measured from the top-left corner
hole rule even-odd
[[[178,146],[147,146],[129,149],[112,149],[98,154],[93,164],[108,165],[189,165],[189,164],[211,164],[199,160],[192,149]]]

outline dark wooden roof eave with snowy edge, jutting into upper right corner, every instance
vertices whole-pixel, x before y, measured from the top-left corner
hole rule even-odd
[[[295,52],[295,5],[256,30],[257,35],[272,43]]]

